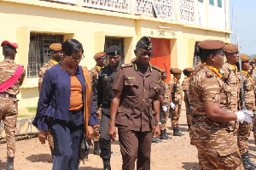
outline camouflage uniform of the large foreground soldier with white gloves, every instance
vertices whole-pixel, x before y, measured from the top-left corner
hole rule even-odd
[[[224,82],[207,66],[195,71],[189,82],[193,116],[190,138],[198,149],[200,169],[243,169],[236,144],[236,123],[212,122],[204,104],[220,103],[226,107]]]

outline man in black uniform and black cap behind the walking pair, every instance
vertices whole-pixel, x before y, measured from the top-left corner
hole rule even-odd
[[[102,120],[100,123],[100,146],[101,157],[103,160],[104,170],[110,170],[111,157],[111,139],[108,136],[108,122],[110,117],[110,105],[113,98],[113,78],[119,69],[119,60],[121,49],[117,46],[111,46],[107,49],[108,65],[99,72],[97,82],[97,108],[102,105]]]

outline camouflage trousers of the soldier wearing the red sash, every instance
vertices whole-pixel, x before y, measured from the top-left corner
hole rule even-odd
[[[15,128],[18,115],[18,99],[0,97],[0,121],[6,134],[7,156],[15,156]]]

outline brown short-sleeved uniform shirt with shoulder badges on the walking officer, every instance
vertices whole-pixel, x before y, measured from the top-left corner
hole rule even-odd
[[[115,119],[117,127],[138,132],[152,130],[158,123],[153,101],[164,93],[160,77],[160,70],[154,65],[148,65],[145,73],[136,63],[120,66],[113,81],[113,89],[122,93]]]

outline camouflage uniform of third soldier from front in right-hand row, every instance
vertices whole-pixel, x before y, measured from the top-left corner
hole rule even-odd
[[[256,111],[255,109],[255,89],[253,85],[253,80],[243,74],[243,83],[244,83],[244,97],[246,109],[250,111]],[[252,131],[253,125],[248,124],[247,122],[239,123],[237,131],[237,144],[239,151],[242,154],[245,154],[248,151],[248,139]]]

